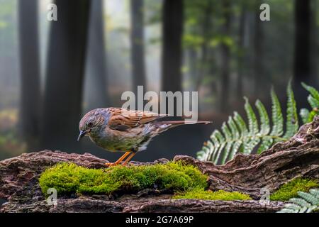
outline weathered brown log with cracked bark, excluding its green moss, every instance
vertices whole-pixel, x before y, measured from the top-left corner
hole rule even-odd
[[[69,196],[58,198],[49,205],[38,184],[40,174],[57,162],[74,162],[89,168],[103,168],[107,162],[85,153],[67,154],[44,150],[27,153],[0,162],[0,199],[6,202],[0,212],[274,212],[284,206],[280,201],[261,203],[262,189],[272,193],[282,184],[297,177],[319,179],[319,117],[300,128],[284,143],[277,143],[261,155],[238,154],[225,165],[216,166],[194,157],[176,156],[196,165],[209,175],[212,190],[237,191],[249,194],[248,201],[208,201],[200,199],[170,199],[172,194],[144,190],[119,198],[103,195]],[[166,159],[155,162],[167,162]],[[132,162],[145,165],[155,162]]]

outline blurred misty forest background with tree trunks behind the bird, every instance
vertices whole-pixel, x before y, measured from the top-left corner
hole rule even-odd
[[[318,87],[318,0],[0,0],[0,160],[43,149],[107,153],[77,143],[90,109],[121,106],[135,91],[198,91],[198,118],[159,135],[135,160],[195,155],[242,96],[269,107],[272,85],[285,108],[293,78]],[[259,6],[271,21],[260,21]]]

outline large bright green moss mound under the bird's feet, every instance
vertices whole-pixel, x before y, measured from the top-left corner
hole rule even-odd
[[[111,194],[154,188],[185,191],[207,187],[207,175],[197,167],[181,162],[167,164],[88,169],[73,163],[58,163],[45,170],[39,179],[43,194],[55,188],[58,194]]]

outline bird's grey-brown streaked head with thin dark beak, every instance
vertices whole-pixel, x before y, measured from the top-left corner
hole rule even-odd
[[[99,110],[89,111],[79,122],[79,137],[77,140],[81,140],[84,135],[90,135],[91,133],[96,133],[103,126],[104,118],[99,113]]]

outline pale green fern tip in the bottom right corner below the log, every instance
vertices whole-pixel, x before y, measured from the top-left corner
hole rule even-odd
[[[289,199],[290,203],[277,213],[310,213],[319,210],[319,189],[310,189],[309,193],[298,192],[298,196]]]

